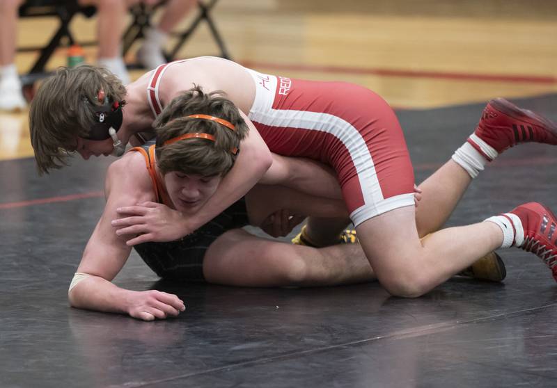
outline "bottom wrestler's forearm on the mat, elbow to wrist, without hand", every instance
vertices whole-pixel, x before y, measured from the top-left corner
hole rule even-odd
[[[127,294],[133,292],[91,275],[74,286],[68,293],[70,306],[78,309],[127,314]]]

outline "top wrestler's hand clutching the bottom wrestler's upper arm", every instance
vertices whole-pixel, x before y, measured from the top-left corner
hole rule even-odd
[[[143,202],[136,206],[119,207],[116,209],[120,216],[112,220],[111,225],[118,228],[116,234],[139,235],[126,241],[127,245],[137,245],[155,241],[174,241],[188,234],[187,222],[180,211],[173,210],[157,202]]]

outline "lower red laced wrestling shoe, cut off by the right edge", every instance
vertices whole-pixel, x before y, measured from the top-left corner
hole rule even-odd
[[[512,223],[515,225],[514,245],[540,257],[557,282],[557,217],[537,202],[521,204],[510,213],[518,216],[521,223]],[[503,216],[510,218],[508,213]]]

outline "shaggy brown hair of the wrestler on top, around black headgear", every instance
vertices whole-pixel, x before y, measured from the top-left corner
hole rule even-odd
[[[68,150],[77,137],[86,137],[95,121],[99,90],[111,101],[122,101],[126,89],[118,77],[102,67],[60,67],[42,83],[31,102],[29,129],[39,174],[68,165]],[[86,99],[90,104],[85,103]]]

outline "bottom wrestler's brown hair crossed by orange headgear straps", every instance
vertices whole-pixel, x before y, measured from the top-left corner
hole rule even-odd
[[[199,86],[175,97],[155,120],[157,131],[157,165],[162,174],[179,171],[183,174],[225,175],[232,168],[236,156],[231,152],[240,148],[240,141],[248,134],[248,126],[238,108],[217,90],[205,93]],[[187,118],[203,114],[227,120],[235,131],[211,120]],[[166,140],[190,133],[213,135],[216,141],[190,138],[164,145]]]

